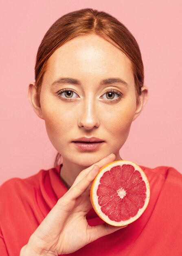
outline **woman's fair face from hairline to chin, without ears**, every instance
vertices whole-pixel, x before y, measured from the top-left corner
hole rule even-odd
[[[90,166],[110,153],[121,159],[119,150],[138,115],[131,67],[119,49],[96,35],[74,38],[50,56],[40,93],[40,117],[63,160]],[[56,83],[60,78],[79,82]],[[96,150],[80,150],[72,142],[92,136],[104,141]]]

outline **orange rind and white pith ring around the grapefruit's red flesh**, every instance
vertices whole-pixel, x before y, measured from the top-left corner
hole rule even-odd
[[[134,216],[129,218],[128,220],[125,221],[114,221],[114,220],[110,220],[110,218],[108,218],[107,215],[105,215],[102,211],[101,211],[101,206],[98,203],[98,196],[96,194],[98,186],[100,184],[100,178],[103,176],[103,173],[105,173],[105,171],[109,171],[112,167],[114,166],[118,166],[118,165],[123,165],[123,164],[131,164],[132,166],[134,166],[135,170],[140,172],[140,175],[143,179],[143,181],[145,182],[146,185],[146,199],[145,199],[145,204],[143,205],[143,207],[141,209],[138,210],[138,213]],[[138,166],[137,164],[135,164],[132,161],[128,161],[128,160],[118,160],[118,161],[114,161],[114,162],[110,162],[109,164],[106,164],[105,166],[103,166],[100,170],[99,173],[96,175],[95,179],[93,180],[91,187],[90,187],[90,201],[92,203],[92,207],[94,208],[94,211],[97,213],[97,215],[104,220],[106,223],[112,225],[112,226],[125,226],[128,225],[132,222],[134,222],[135,220],[137,220],[145,211],[145,209],[147,208],[147,205],[149,203],[149,198],[150,198],[150,185],[149,185],[149,181],[147,179],[147,176],[145,175],[144,171],[142,170],[142,168],[140,168],[140,166]]]

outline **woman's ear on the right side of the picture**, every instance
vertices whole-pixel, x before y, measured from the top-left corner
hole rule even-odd
[[[133,121],[140,115],[145,104],[147,103],[147,100],[148,100],[148,88],[147,86],[142,86],[141,94],[138,96],[138,99],[136,101],[136,112],[135,112]]]

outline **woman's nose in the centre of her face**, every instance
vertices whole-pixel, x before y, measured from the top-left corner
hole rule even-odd
[[[99,110],[93,98],[85,99],[81,102],[80,117],[78,120],[79,127],[91,130],[99,126]]]

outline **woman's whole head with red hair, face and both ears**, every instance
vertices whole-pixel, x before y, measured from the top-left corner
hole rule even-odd
[[[60,78],[77,83],[56,83]],[[44,36],[29,98],[62,157],[87,166],[95,153],[118,155],[147,101],[143,81],[140,49],[128,29],[107,13],[82,9],[59,18]],[[84,136],[105,143],[98,152],[81,152],[72,140]]]

